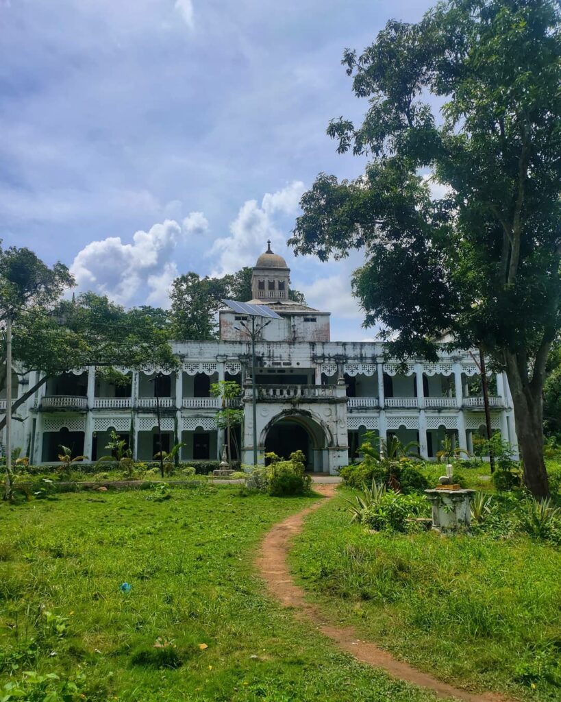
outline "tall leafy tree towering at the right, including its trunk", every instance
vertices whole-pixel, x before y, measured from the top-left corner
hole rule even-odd
[[[417,24],[388,22],[361,55],[347,49],[369,106],[327,133],[370,163],[353,181],[320,174],[291,239],[323,260],[365,250],[354,289],[394,352],[434,358],[447,330],[506,370],[536,496],[548,494],[541,398],[560,326],[560,56],[553,0],[448,0]]]

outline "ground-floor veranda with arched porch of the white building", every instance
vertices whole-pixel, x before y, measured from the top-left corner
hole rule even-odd
[[[246,414],[248,412],[246,411]],[[278,406],[266,416],[258,417],[257,460],[264,463],[272,451],[288,458],[301,450],[306,466],[313,472],[335,473],[342,465],[360,458],[360,444],[366,432],[387,439],[396,436],[402,444],[412,444],[412,453],[435,459],[445,439],[452,446],[473,455],[478,451],[478,437],[484,437],[483,413],[459,411],[443,415],[421,411],[408,415],[346,412],[344,405],[305,408]],[[492,429],[516,446],[513,413],[492,414]],[[150,415],[99,416],[95,413],[38,413],[27,437],[27,455],[34,463],[58,461],[60,445],[69,446],[73,456],[85,455],[90,461],[107,456],[111,431],[115,431],[133,449],[137,461],[153,461],[160,450],[157,418]],[[214,416],[174,415],[161,418],[161,448],[168,451],[180,441],[184,446],[180,460],[217,460],[225,443],[224,430],[217,428]],[[232,456],[243,463],[253,461],[251,418],[245,432],[233,432]]]

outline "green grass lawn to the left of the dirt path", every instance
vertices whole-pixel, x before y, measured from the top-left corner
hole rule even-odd
[[[205,483],[154,494],[0,504],[0,689],[31,670],[60,676],[28,684],[22,698],[37,702],[65,680],[79,689],[65,700],[90,702],[434,700],[339,653],[264,593],[259,539],[313,498]]]

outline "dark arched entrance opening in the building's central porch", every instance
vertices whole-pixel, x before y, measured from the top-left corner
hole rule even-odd
[[[328,472],[328,442],[325,428],[311,416],[287,413],[264,428],[262,445],[266,453],[273,451],[282,458],[288,458],[293,451],[302,451],[306,456],[306,470]]]

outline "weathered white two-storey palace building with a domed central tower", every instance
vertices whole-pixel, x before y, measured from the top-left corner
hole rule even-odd
[[[356,458],[360,437],[374,430],[418,442],[424,458],[435,458],[446,435],[466,451],[485,426],[478,366],[468,353],[442,353],[438,362],[384,358],[377,342],[330,340],[330,313],[288,299],[290,269],[269,248],[257,259],[252,303],[278,312],[256,343],[257,449],[288,456],[306,455],[309,470],[335,473]],[[20,406],[13,422],[12,445],[32,463],[58,461],[59,445],[90,461],[108,453],[115,430],[133,446],[138,461],[158,451],[156,392],[161,407],[162,447],[182,441],[182,461],[221,456],[224,431],[217,428],[219,400],[210,397],[217,380],[241,385],[245,421],[238,446],[241,461],[252,463],[251,344],[243,314],[219,312],[219,340],[175,343],[178,371],[145,368],[130,373],[130,385],[115,387],[95,368],[49,378]],[[20,378],[18,392],[36,383]],[[492,427],[516,446],[513,404],[503,373],[489,377]],[[17,397],[17,395],[16,395]],[[6,400],[0,399],[0,413]]]

